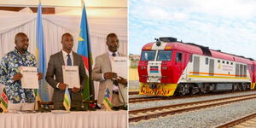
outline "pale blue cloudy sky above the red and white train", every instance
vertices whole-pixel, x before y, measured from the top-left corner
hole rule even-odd
[[[256,60],[256,1],[129,0],[129,54],[159,37]]]

